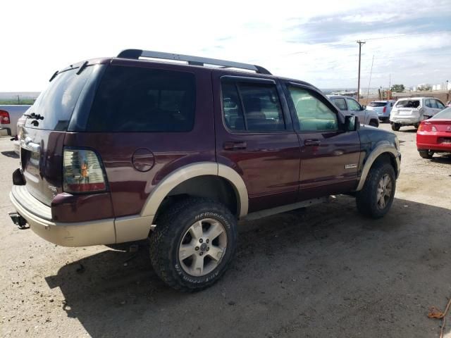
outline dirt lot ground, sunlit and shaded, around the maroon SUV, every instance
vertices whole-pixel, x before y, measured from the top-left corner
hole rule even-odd
[[[145,249],[64,248],[13,227],[18,159],[0,139],[2,336],[438,337],[427,313],[451,297],[451,157],[424,160],[413,128],[397,134],[402,173],[385,218],[338,196],[241,223],[231,269],[197,294],[160,282]]]

